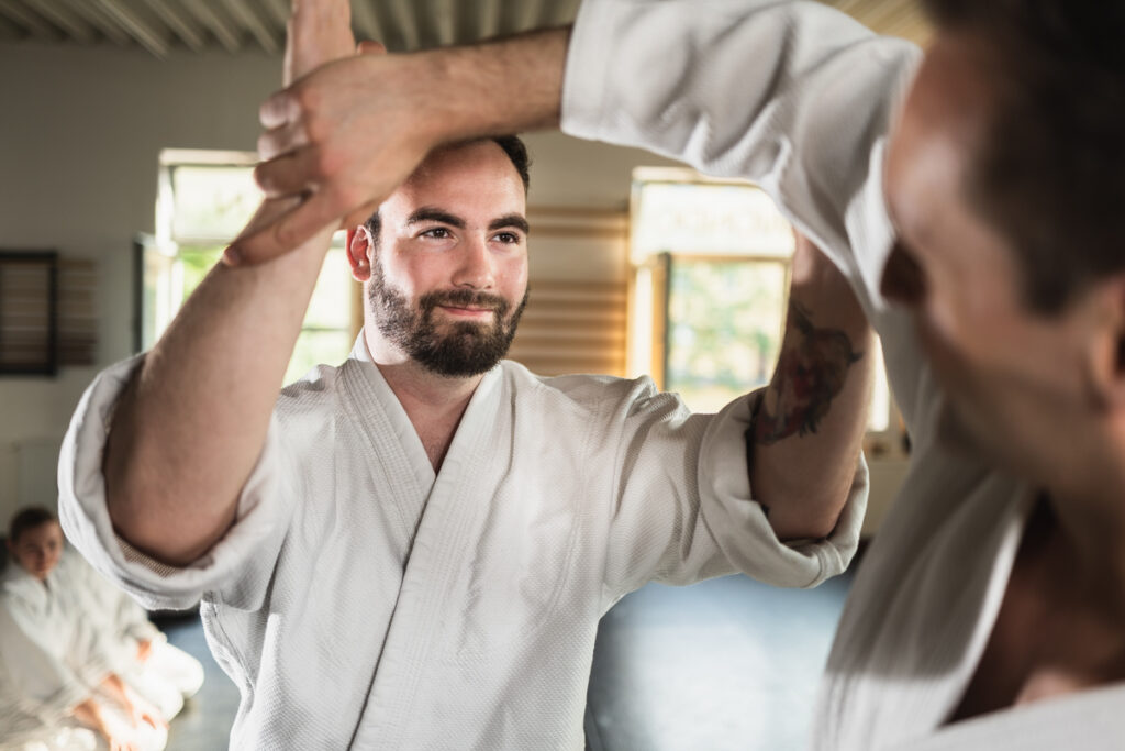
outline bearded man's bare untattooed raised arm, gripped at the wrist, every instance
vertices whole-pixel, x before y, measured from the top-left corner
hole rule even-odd
[[[346,0],[295,0],[287,81],[354,43]],[[288,207],[267,202],[251,226]],[[217,266],[133,374],[114,412],[104,467],[118,534],[173,565],[209,549],[234,520],[333,227],[277,260]]]

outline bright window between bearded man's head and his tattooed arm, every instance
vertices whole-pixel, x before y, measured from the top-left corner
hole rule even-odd
[[[764,386],[781,350],[793,231],[746,182],[641,168],[631,200],[629,370],[648,373],[694,411]],[[880,358],[870,431],[898,444]]]

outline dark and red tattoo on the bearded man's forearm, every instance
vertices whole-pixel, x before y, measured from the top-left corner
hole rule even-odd
[[[753,441],[766,446],[792,435],[817,432],[844,388],[848,368],[863,358],[846,333],[813,327],[808,311],[793,301],[785,329],[777,372],[752,428]]]

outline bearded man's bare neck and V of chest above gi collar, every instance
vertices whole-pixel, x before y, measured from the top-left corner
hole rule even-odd
[[[367,346],[371,360],[406,411],[430,464],[438,472],[484,376],[438,375],[379,337],[368,334]]]

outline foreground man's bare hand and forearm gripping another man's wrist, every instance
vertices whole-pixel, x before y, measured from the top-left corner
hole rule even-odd
[[[268,195],[308,198],[244,233],[224,259],[261,262],[327,224],[362,224],[439,144],[557,126],[568,36],[360,55],[278,92],[261,109],[269,161],[255,177]]]

